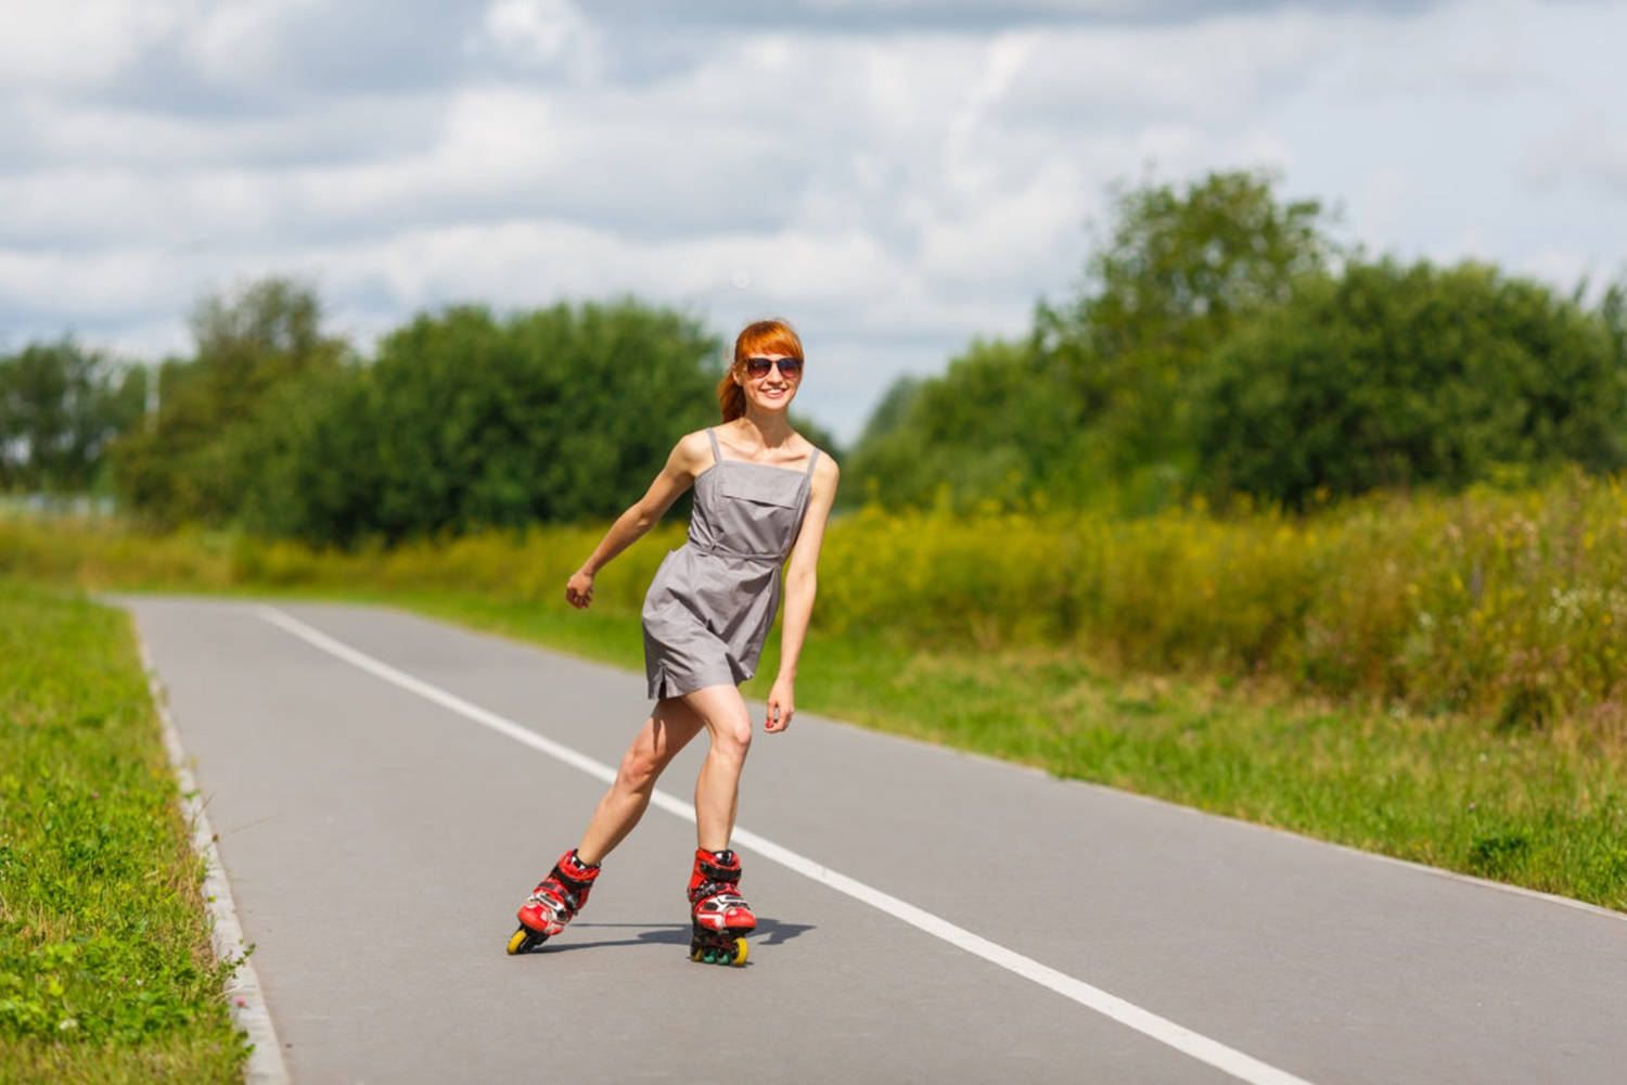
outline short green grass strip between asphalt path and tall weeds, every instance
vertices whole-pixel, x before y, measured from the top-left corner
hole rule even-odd
[[[643,665],[630,612],[373,602]],[[776,667],[771,641],[747,693],[766,695]],[[887,636],[815,634],[799,672],[802,711],[1627,911],[1627,755],[1585,727],[1494,730],[1061,651],[919,651]]]

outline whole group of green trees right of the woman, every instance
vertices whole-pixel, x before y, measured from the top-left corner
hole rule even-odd
[[[1269,176],[1121,192],[1079,296],[903,379],[849,498],[1142,514],[1627,465],[1627,290],[1341,249]]]

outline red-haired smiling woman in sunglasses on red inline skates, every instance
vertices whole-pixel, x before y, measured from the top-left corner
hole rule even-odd
[[[569,604],[587,607],[599,569],[695,485],[688,542],[661,563],[644,597],[644,670],[656,706],[581,843],[521,906],[509,953],[524,953],[565,929],[587,903],[599,864],[644,817],[661,771],[704,730],[711,748],[695,784],[690,953],[698,961],[745,963],[742,935],[757,927],[757,917],[740,898],[740,861],[729,836],[752,717],[737,686],[757,670],[789,553],[779,673],[768,693],[763,730],[778,734],[791,726],[797,657],[814,612],[815,566],[838,480],[836,462],[786,418],[800,381],[802,340],[791,325],[747,325],[735,338],[734,364],[718,384],[724,425],[678,441],[649,491],[610,525],[566,584]]]

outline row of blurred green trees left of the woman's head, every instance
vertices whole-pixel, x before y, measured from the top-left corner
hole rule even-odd
[[[394,543],[610,517],[718,420],[721,340],[635,299],[447,307],[368,359],[281,278],[205,299],[190,325],[195,351],[151,387],[73,340],[0,358],[5,488],[99,485],[158,529]]]

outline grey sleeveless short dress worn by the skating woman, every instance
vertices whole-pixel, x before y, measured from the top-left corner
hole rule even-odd
[[[656,569],[644,595],[649,696],[739,685],[757,673],[779,610],[779,569],[802,529],[818,449],[805,472],[726,460],[695,478],[690,538]]]

